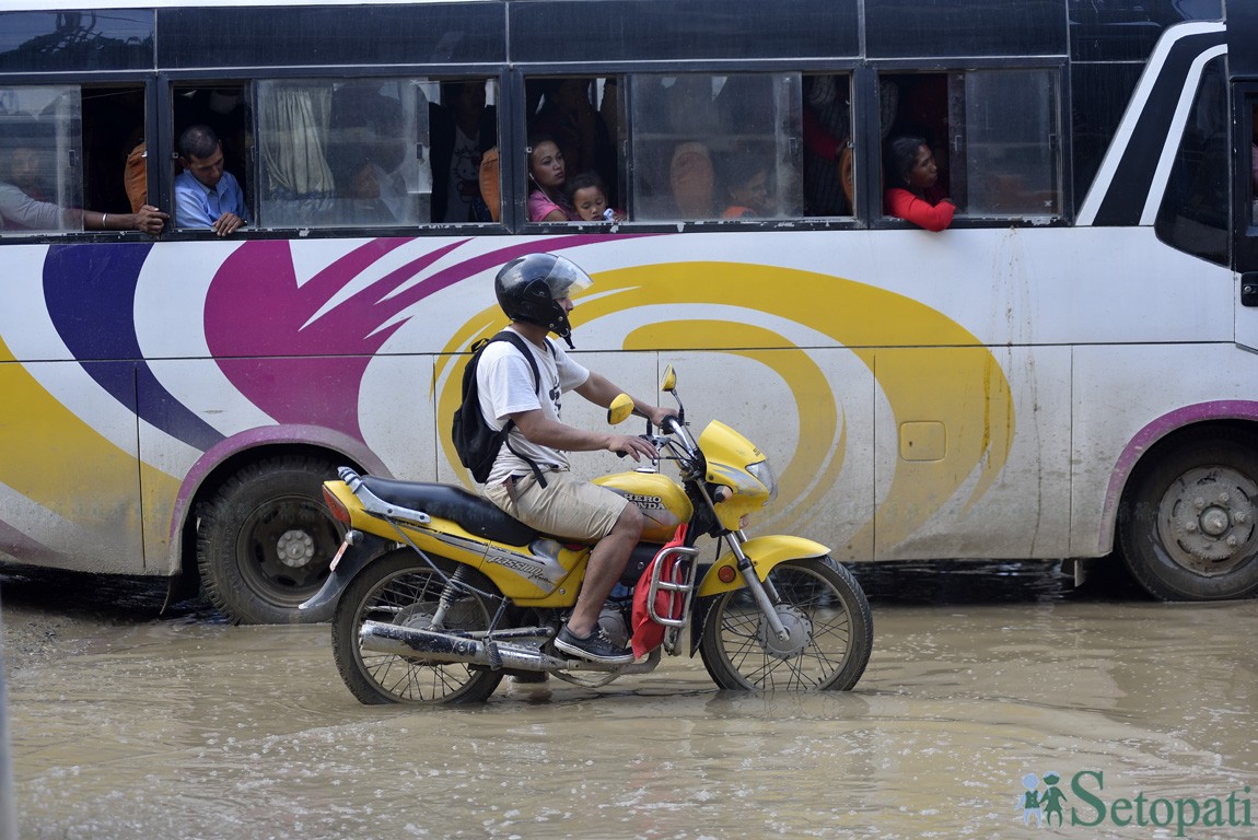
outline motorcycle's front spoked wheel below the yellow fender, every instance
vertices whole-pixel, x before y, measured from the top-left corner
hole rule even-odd
[[[873,648],[869,602],[848,570],[829,557],[793,560],[769,573],[779,639],[746,589],[718,596],[699,654],[717,685],[740,690],[847,690]]]

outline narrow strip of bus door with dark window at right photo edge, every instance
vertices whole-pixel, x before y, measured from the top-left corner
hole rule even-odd
[[[1258,350],[1258,79],[1233,80],[1235,155],[1233,268],[1239,275],[1237,342]]]

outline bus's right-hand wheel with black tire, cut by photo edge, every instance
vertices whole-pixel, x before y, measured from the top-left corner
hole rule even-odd
[[[1258,435],[1185,436],[1138,468],[1118,507],[1123,561],[1166,601],[1258,592]]]

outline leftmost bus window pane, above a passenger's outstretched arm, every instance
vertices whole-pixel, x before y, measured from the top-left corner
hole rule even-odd
[[[0,233],[82,230],[81,126],[78,86],[0,88]]]

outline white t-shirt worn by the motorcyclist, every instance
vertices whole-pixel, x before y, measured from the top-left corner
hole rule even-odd
[[[515,329],[512,332],[520,334]],[[546,352],[523,336],[521,338],[532,352],[533,361],[537,362],[541,387],[533,389],[533,372],[528,366],[528,360],[521,356],[520,351],[509,342],[496,341],[487,346],[477,363],[476,381],[481,391],[481,414],[484,415],[486,423],[492,429],[502,429],[508,415],[533,409],[541,409],[545,417],[562,423],[560,397],[590,379],[590,371],[574,361],[555,342],[547,341],[551,352]],[[541,397],[538,397],[538,391]],[[516,451],[532,459],[538,467],[567,467],[566,453],[530,443],[515,426],[507,438]],[[503,446],[498,451],[498,459],[493,463],[493,469],[486,483],[497,484],[506,480],[508,475],[531,474],[532,468],[511,449]]]

